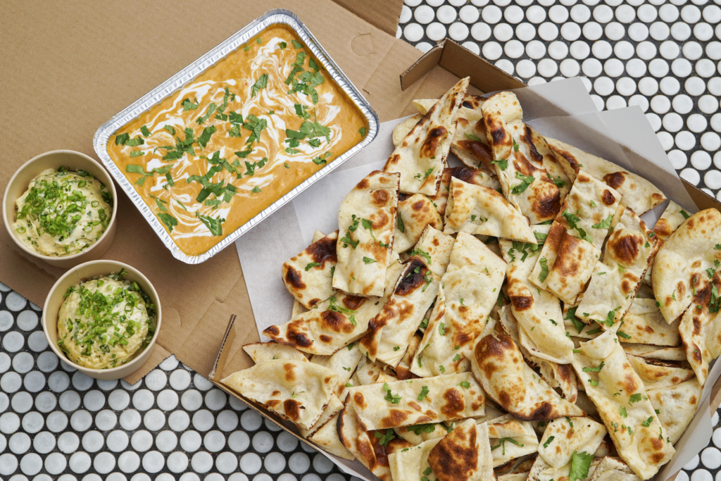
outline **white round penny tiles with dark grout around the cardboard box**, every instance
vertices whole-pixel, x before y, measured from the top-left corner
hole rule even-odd
[[[721,199],[715,2],[405,0],[397,36],[426,51],[447,35],[528,84],[581,76],[600,110],[640,105],[681,176]],[[1,480],[351,479],[174,356],[133,386],[80,374],[39,315],[0,284]],[[720,449],[716,428],[678,481],[721,481]]]

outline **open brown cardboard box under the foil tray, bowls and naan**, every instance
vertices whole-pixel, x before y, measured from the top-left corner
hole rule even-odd
[[[421,56],[395,38],[402,0],[219,1],[205,8],[191,1],[172,6],[11,1],[4,4],[0,30],[0,58],[6,66],[0,84],[7,99],[0,126],[12,139],[4,146],[0,188],[19,165],[44,151],[71,149],[94,156],[98,125],[252,19],[280,7],[301,17],[381,122],[414,113],[412,99],[438,97],[459,76],[470,76],[476,93],[523,87],[451,40]],[[177,40],[174,34],[181,30],[184,39],[193,40]],[[685,185],[699,208],[721,210],[715,199]],[[251,366],[241,346],[259,336],[235,250],[201,265],[185,265],[173,259],[127,198],[118,203],[118,235],[104,257],[141,270],[164,307],[151,360],[128,381],[141,379],[172,353],[216,384]],[[0,281],[42,305],[62,273],[25,255],[0,229]],[[712,391],[712,409],[721,401],[720,387],[718,382]]]

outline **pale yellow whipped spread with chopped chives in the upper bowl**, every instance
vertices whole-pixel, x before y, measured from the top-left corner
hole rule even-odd
[[[30,250],[61,257],[97,242],[112,215],[110,190],[84,170],[47,169],[15,203],[15,231]]]

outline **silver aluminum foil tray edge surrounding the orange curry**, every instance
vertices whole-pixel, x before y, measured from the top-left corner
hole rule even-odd
[[[335,81],[340,86],[343,92],[345,92],[345,94],[348,95],[348,97],[355,104],[355,106],[358,107],[358,110],[361,111],[363,117],[366,118],[366,122],[368,122],[368,132],[366,133],[366,136],[363,137],[361,142],[346,151],[345,154],[337,156],[337,158],[333,160],[333,162],[330,162],[325,167],[316,172],[314,175],[298,184],[293,190],[288,192],[286,195],[283,195],[283,197],[276,200],[273,204],[265,208],[265,210],[258,213],[257,216],[247,221],[246,224],[240,226],[238,229],[228,234],[221,242],[218,242],[218,244],[211,247],[211,249],[203,252],[203,254],[200,255],[187,255],[185,254],[185,252],[182,252],[179,247],[177,247],[177,244],[173,242],[173,239],[167,233],[162,223],[150,210],[149,206],[143,201],[141,196],[138,195],[135,188],[133,188],[131,182],[125,177],[123,172],[118,169],[118,166],[115,165],[115,162],[112,162],[112,159],[110,159],[110,155],[107,153],[107,142],[115,134],[115,132],[118,131],[119,128],[123,127],[123,125],[130,122],[134,118],[137,118],[142,112],[149,110],[157,103],[162,102],[162,100],[164,100],[169,95],[185,87],[185,85],[195,79],[196,76],[202,74],[203,71],[213,66],[222,58],[225,58],[229,53],[233,52],[241,45],[244,45],[249,40],[252,40],[252,38],[255,37],[255,35],[257,35],[258,33],[262,32],[262,30],[265,30],[267,27],[270,27],[272,25],[279,24],[287,25],[294,32],[296,32],[296,35],[298,35],[298,37],[303,40],[311,53],[313,53],[313,55],[322,63],[333,81]],[[127,194],[128,197],[131,198],[133,204],[135,204],[135,206],[138,208],[138,211],[141,212],[145,220],[148,221],[148,224],[150,224],[152,229],[162,240],[163,244],[165,244],[165,247],[167,247],[168,250],[172,252],[173,257],[187,264],[199,264],[200,262],[205,262],[206,260],[210,259],[211,257],[213,257],[213,255],[221,252],[221,250],[224,250],[230,244],[235,242],[236,239],[238,239],[247,231],[256,226],[260,221],[266,219],[267,216],[270,216],[270,214],[277,211],[281,206],[285,205],[286,203],[288,203],[288,201],[296,197],[296,195],[313,185],[314,182],[317,182],[325,175],[328,175],[329,172],[331,172],[337,167],[340,167],[340,165],[346,160],[350,159],[350,157],[357,154],[362,149],[365,149],[366,146],[368,146],[368,144],[371,144],[373,139],[376,138],[376,136],[378,135],[378,128],[378,114],[376,114],[375,110],[373,110],[373,107],[371,107],[368,101],[363,97],[363,95],[361,95],[361,92],[358,92],[358,89],[355,88],[353,83],[351,83],[351,81],[348,79],[348,76],[346,76],[337,66],[337,64],[333,61],[333,59],[330,58],[330,56],[320,45],[316,37],[313,36],[313,34],[298,18],[298,16],[286,9],[273,9],[266,12],[264,15],[262,15],[262,17],[250,22],[241,30],[234,33],[234,35],[231,35],[231,37],[229,37],[227,40],[224,40],[224,42],[221,42],[215,48],[208,51],[208,53],[205,53],[205,55],[198,58],[198,60],[185,67],[185,69],[182,69],[180,72],[167,79],[167,81],[164,81],[158,87],[152,89],[150,92],[143,95],[143,97],[136,100],[136,102],[133,102],[128,107],[125,107],[125,109],[123,109],[118,114],[113,115],[110,120],[100,125],[100,127],[95,132],[95,135],[93,137],[93,147],[96,154],[99,156],[99,159],[108,169],[108,171],[110,171],[110,175],[115,179],[116,182],[118,182],[118,185],[120,185],[120,188],[125,192],[125,194]]]

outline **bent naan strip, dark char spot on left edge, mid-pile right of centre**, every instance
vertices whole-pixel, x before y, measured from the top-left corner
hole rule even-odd
[[[547,227],[541,226],[539,231],[548,231]],[[528,281],[538,260],[539,245],[505,239],[500,239],[498,244],[503,259],[508,262],[508,296],[513,316],[518,321],[521,345],[536,358],[557,364],[570,363],[573,341],[566,337],[561,302]]]

